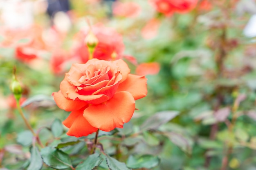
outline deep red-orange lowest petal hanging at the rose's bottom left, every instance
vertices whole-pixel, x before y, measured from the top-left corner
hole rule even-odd
[[[83,109],[72,111],[67,119],[63,121],[63,124],[70,128],[69,131],[67,131],[67,135],[70,136],[87,136],[97,131],[97,128],[90,125],[83,117]]]

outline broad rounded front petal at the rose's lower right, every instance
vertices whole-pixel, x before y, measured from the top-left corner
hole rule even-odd
[[[102,131],[122,128],[135,110],[135,100],[129,92],[118,92],[112,99],[100,105],[91,105],[83,111],[88,122]]]

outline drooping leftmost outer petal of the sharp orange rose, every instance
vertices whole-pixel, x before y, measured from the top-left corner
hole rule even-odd
[[[62,94],[61,91],[58,92],[54,92],[52,93],[52,96],[54,97],[54,100],[56,102],[56,105],[65,110],[65,111],[75,111],[75,110],[79,110],[82,107],[85,107],[86,105],[88,105],[86,102],[84,101],[80,101],[80,100],[70,100],[65,98]]]

